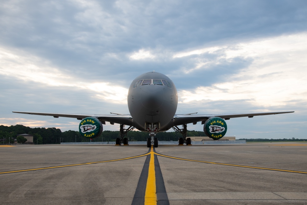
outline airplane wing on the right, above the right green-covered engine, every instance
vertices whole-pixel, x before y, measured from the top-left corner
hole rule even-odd
[[[285,111],[285,112],[257,112],[257,113],[239,113],[239,114],[217,114],[217,115],[193,115],[193,113],[190,114],[183,114],[183,115],[175,115],[174,116],[174,126],[182,125],[182,124],[188,124],[193,123],[196,124],[196,122],[201,121],[201,124],[204,124],[206,120],[210,117],[220,117],[225,120],[229,120],[230,118],[235,117],[253,117],[253,116],[260,116],[260,115],[276,115],[276,114],[284,114],[284,113],[290,113],[294,111]]]

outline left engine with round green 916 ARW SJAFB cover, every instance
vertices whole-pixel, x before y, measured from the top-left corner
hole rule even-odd
[[[102,123],[96,117],[86,117],[79,124],[79,133],[86,138],[99,137],[102,131]]]

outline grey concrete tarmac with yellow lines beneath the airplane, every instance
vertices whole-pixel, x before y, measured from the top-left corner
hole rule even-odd
[[[307,204],[307,143],[0,147],[1,204]]]

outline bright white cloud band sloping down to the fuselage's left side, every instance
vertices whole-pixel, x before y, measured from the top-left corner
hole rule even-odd
[[[50,63],[37,56],[25,53],[10,53],[5,49],[0,49],[0,74],[4,76],[14,76],[17,79],[27,82],[37,82],[46,86],[74,87],[95,92],[95,97],[114,103],[126,103],[128,89],[109,82],[83,82],[82,76],[72,75],[63,72],[58,68],[50,66]],[[91,72],[91,71],[88,71]],[[87,73],[88,73],[87,72]]]

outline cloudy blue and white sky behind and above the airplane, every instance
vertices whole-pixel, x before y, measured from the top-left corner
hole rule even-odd
[[[12,111],[128,114],[131,82],[154,70],[177,114],[295,111],[227,120],[226,136],[307,139],[305,0],[4,0],[0,28],[2,125],[80,123]]]

